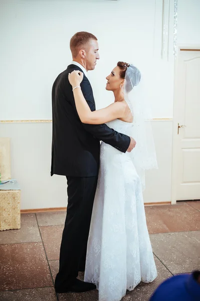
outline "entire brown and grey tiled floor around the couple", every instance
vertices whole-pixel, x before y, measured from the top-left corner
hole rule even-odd
[[[146,206],[145,210],[158,277],[152,283],[140,283],[122,301],[147,301],[172,274],[200,268],[200,201]],[[22,214],[20,230],[0,232],[1,301],[98,301],[97,290],[55,293],[65,215],[64,211]]]

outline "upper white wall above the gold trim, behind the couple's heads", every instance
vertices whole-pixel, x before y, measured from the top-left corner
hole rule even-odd
[[[69,41],[77,31],[92,32],[99,40],[101,59],[89,74],[98,108],[112,101],[105,77],[123,60],[141,69],[151,90],[153,116],[172,116],[173,64],[160,58],[161,20],[155,24],[155,0],[1,0],[0,4],[4,29],[0,120],[51,119],[52,84],[71,63]],[[162,14],[160,5],[158,10]]]

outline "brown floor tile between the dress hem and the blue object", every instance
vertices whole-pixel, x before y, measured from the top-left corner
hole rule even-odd
[[[158,285],[172,276],[166,267],[156,257],[154,258],[157,267],[157,278],[151,283],[141,282],[134,290],[127,292],[122,301],[148,301]]]

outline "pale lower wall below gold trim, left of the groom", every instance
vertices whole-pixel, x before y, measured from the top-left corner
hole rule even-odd
[[[52,123],[5,123],[11,137],[11,174],[21,187],[21,209],[67,206],[66,178],[50,176]]]

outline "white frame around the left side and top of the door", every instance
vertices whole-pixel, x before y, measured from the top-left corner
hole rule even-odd
[[[177,55],[174,61],[174,88],[173,88],[173,127],[172,127],[172,166],[171,166],[171,205],[176,204],[177,195],[177,124],[178,124],[178,60],[180,56],[180,51],[200,51],[199,45],[182,44],[177,46]]]

